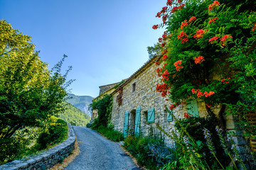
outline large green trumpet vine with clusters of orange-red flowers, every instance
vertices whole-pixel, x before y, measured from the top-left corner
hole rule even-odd
[[[186,6],[171,12],[180,6],[173,1],[161,13],[168,14],[161,25],[166,26],[166,38],[160,41],[167,59],[163,57],[164,66],[158,69],[164,84],[158,91],[162,96],[170,92],[174,103],[199,98],[210,115],[211,106],[225,103],[220,125],[226,105],[229,114],[240,118],[241,128],[250,127],[245,128],[247,135],[255,135],[256,127],[246,118],[256,104],[256,1],[219,2],[183,1]]]

